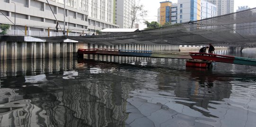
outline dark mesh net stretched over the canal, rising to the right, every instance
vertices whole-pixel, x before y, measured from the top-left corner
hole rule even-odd
[[[65,39],[97,45],[208,45],[256,47],[256,8],[152,30],[97,36],[37,37],[49,42]]]

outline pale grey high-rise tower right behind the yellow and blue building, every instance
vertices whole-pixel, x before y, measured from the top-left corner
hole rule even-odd
[[[234,12],[234,0],[207,0],[217,6],[217,16]]]

